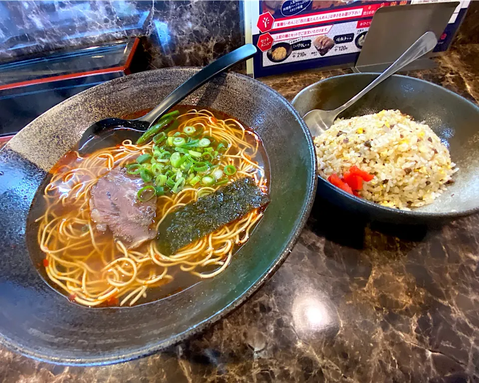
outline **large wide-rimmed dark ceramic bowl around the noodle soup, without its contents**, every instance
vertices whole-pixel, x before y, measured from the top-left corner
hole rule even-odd
[[[53,290],[33,264],[27,245],[36,240],[26,225],[27,215],[52,165],[93,122],[153,108],[197,70],[143,72],[84,91],[34,120],[1,150],[2,345],[36,359],[71,365],[145,356],[198,333],[238,307],[289,254],[315,195],[311,136],[279,94],[230,73],[184,102],[240,119],[258,132],[269,156],[271,203],[225,272],[156,302],[132,308],[87,308]]]

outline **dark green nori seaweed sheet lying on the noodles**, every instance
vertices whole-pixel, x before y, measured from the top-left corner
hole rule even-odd
[[[158,250],[178,250],[269,202],[250,177],[243,177],[168,214],[158,228]]]

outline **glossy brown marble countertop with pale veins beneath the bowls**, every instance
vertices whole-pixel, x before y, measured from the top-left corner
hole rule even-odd
[[[479,102],[479,45],[412,72]],[[261,79],[288,100],[349,70]],[[327,218],[327,219],[326,219]],[[479,214],[443,227],[358,221],[316,199],[273,277],[163,353],[79,368],[0,348],[0,382],[479,382]]]

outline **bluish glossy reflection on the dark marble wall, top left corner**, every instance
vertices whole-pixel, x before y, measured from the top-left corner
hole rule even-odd
[[[0,58],[144,34],[153,1],[1,1]]]

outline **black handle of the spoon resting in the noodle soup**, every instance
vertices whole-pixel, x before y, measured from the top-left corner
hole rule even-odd
[[[256,53],[256,47],[253,44],[245,44],[233,52],[230,52],[218,60],[204,67],[201,71],[195,73],[192,77],[186,80],[172,93],[170,93],[155,109],[138,120],[150,123],[150,126],[158,120],[170,108],[178,104],[181,100],[187,97],[190,93],[196,91],[199,87],[233,65],[252,57]]]

